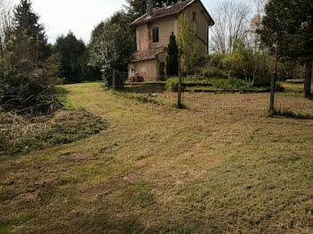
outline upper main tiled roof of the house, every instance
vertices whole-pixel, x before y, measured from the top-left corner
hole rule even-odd
[[[163,18],[165,16],[170,16],[170,15],[181,13],[182,10],[184,10],[190,4],[193,4],[197,1],[199,1],[199,0],[186,0],[186,1],[179,3],[179,4],[173,4],[173,5],[165,6],[163,8],[154,9],[152,16],[148,17],[147,13],[145,13],[144,15],[142,15],[137,20],[131,22],[131,25],[138,25],[138,24],[143,23],[143,22],[155,21],[155,20],[157,20],[159,18]],[[199,3],[202,4],[201,1],[199,1]],[[206,13],[207,13],[206,7],[203,4],[202,4],[202,6],[206,10]],[[212,25],[213,25],[214,21],[212,20],[212,17],[210,16],[209,13],[207,13],[207,15],[209,16],[210,20],[212,21]]]

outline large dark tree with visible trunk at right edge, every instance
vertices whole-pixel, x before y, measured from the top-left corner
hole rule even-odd
[[[266,4],[263,27],[258,30],[267,46],[279,44],[283,59],[305,64],[305,96],[311,96],[313,62],[313,4],[311,0],[270,0]]]

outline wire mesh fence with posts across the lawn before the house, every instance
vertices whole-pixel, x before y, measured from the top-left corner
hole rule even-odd
[[[111,76],[114,83],[113,90],[119,88],[118,80],[128,80],[129,73],[126,71],[112,71]],[[194,84],[193,84],[194,85]],[[207,84],[205,84],[206,86]],[[270,109],[270,104],[274,104],[274,110],[288,110],[295,113],[306,113],[305,109],[301,109],[301,105],[294,104],[295,102],[301,103],[303,106],[307,106],[305,100],[295,100],[301,94],[292,94],[288,96],[288,93],[275,92],[275,98],[271,98],[269,88],[265,90],[257,90],[256,92],[240,92],[233,90],[216,91],[214,88],[190,86],[190,80],[182,77],[182,93],[181,93],[181,108],[187,108],[193,112],[218,112],[220,110],[226,110],[229,113],[236,112],[238,110],[247,110],[248,105],[258,106],[259,109],[266,112]],[[194,91],[197,90],[197,91]],[[139,83],[134,82],[127,83],[126,91],[130,96],[147,96],[148,99],[156,100],[156,103],[162,103],[166,105],[178,106],[179,94],[177,92],[170,92],[165,90],[165,82],[161,84],[153,84],[153,82]],[[273,89],[272,89],[273,91]],[[231,94],[232,93],[232,94]],[[222,95],[223,94],[223,95]],[[274,103],[273,103],[274,99]],[[294,99],[294,100],[293,100]],[[146,99],[142,99],[146,100]],[[271,100],[271,103],[270,103]],[[254,107],[251,107],[251,110]]]

